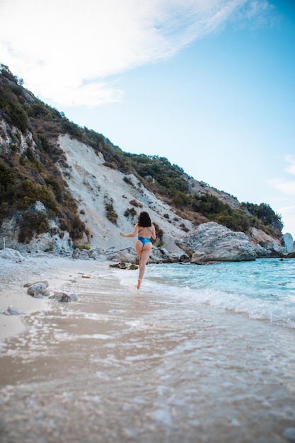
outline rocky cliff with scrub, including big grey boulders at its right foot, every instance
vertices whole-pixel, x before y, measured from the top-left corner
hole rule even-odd
[[[291,236],[283,237],[272,226],[267,234],[259,228],[259,220],[258,226],[249,225],[244,232],[211,222],[197,210],[203,197],[206,205],[211,196],[212,205],[221,202],[225,205],[221,209],[229,208],[228,214],[237,211],[245,226],[250,206],[241,207],[236,197],[184,171],[174,168],[171,174],[176,176],[174,185],[185,183],[186,192],[175,192],[178,200],[161,194],[159,186],[153,185],[154,177],[143,178],[108,139],[83,132],[8,76],[0,79],[2,247],[21,253],[71,254],[81,246],[84,256],[106,254],[120,260],[128,256],[132,261],[129,247],[134,239],[121,238],[119,232],[132,231],[139,212],[146,210],[156,224],[154,261],[207,263],[294,254]],[[185,208],[187,196],[190,202]],[[225,220],[229,215],[222,217]],[[79,254],[76,250],[75,256]]]

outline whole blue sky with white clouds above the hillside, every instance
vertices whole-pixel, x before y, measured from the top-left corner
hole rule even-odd
[[[0,0],[0,62],[133,154],[266,203],[295,240],[294,0]]]

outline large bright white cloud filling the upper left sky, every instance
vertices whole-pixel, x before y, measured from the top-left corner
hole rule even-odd
[[[56,103],[107,103],[122,96],[110,76],[172,57],[241,8],[257,16],[261,8],[254,14],[253,5],[257,1],[1,0],[0,62]]]

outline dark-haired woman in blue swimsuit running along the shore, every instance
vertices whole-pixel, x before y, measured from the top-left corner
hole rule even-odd
[[[139,256],[139,277],[137,282],[137,289],[139,289],[141,280],[144,277],[144,271],[146,270],[147,260],[149,260],[149,255],[151,254],[151,238],[156,240],[156,229],[154,224],[151,224],[151,219],[147,212],[143,211],[139,214],[138,222],[134,226],[134,231],[131,234],[123,234],[120,232],[121,237],[135,237],[137,235],[138,238],[135,243],[135,249]]]

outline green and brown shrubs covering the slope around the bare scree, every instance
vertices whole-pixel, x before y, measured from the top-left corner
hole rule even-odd
[[[27,139],[30,130],[35,142],[34,149],[31,142],[31,146],[29,144],[28,149],[20,154],[17,149],[19,140],[11,134],[10,149],[1,151],[0,218],[18,214],[20,241],[29,240],[33,233],[50,231],[50,217],[57,217],[60,229],[69,231],[73,240],[81,238],[86,231],[77,213],[76,202],[57,168],[57,162],[65,160],[56,140],[59,134],[65,133],[101,152],[105,166],[126,175],[133,173],[146,188],[192,222],[196,219],[192,214],[202,214],[203,219],[223,224],[233,231],[246,232],[255,226],[271,235],[282,233],[281,216],[269,205],[244,202],[238,209],[232,209],[209,192],[202,195],[190,192],[188,177],[182,168],[172,165],[164,157],[123,152],[102,134],[75,125],[63,113],[26,91],[23,81],[13,76],[3,64],[0,64],[0,115],[8,124],[18,127]],[[40,217],[33,220],[30,208],[37,200],[47,212],[40,213]],[[108,214],[111,217],[110,210]]]

